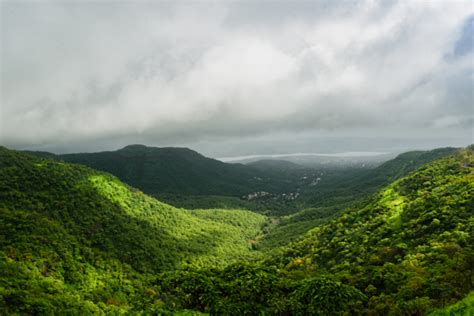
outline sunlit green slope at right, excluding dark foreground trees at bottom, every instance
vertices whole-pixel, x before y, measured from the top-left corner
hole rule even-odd
[[[424,312],[474,288],[474,155],[429,163],[279,257],[363,290],[374,313]]]

